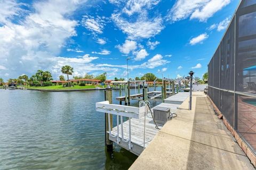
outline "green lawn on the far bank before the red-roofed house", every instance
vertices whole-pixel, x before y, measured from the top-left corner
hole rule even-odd
[[[97,86],[88,85],[88,86],[78,86],[75,85],[74,87],[62,87],[62,85],[59,86],[46,86],[46,87],[29,87],[30,89],[48,89],[48,90],[69,90],[69,89],[95,89]],[[102,86],[99,86],[102,87]]]

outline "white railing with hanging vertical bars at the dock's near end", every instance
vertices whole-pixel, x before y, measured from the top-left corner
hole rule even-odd
[[[145,116],[145,106],[142,107],[133,107],[133,106],[123,106],[123,105],[115,105],[109,104],[109,101],[101,101],[96,103],[96,111],[102,113],[108,113],[108,132],[109,137],[116,138],[116,142],[120,142],[119,138],[119,116],[121,122],[121,140],[124,143],[128,143],[129,149],[132,149],[131,143],[131,118],[141,118]],[[111,126],[110,126],[110,114],[116,115],[117,121],[117,134],[111,134]],[[124,139],[124,130],[123,130],[123,116],[129,118],[129,138],[127,140]]]

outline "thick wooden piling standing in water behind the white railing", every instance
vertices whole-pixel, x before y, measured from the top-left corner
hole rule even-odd
[[[108,85],[106,90],[105,90],[105,100],[109,101],[109,104],[112,104],[112,88]],[[113,116],[110,114],[110,127],[111,130],[113,128]],[[112,151],[113,150],[113,142],[109,140],[109,134],[107,133],[108,131],[108,114],[105,113],[105,146],[107,148],[107,151]]]

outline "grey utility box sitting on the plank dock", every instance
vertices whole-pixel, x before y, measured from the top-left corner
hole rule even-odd
[[[153,108],[153,113],[156,123],[164,125],[170,116],[170,108],[158,106]]]

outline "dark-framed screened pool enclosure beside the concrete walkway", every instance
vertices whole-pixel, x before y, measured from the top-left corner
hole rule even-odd
[[[209,97],[256,152],[256,0],[237,8],[209,65]]]

